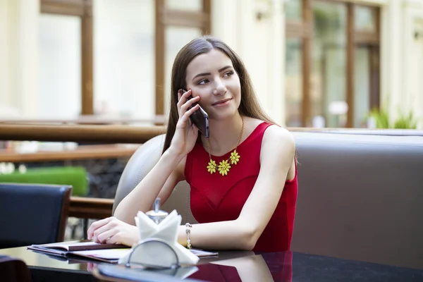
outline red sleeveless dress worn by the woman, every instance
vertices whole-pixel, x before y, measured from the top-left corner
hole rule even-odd
[[[260,149],[264,131],[271,123],[260,123],[237,149],[240,161],[231,165],[228,175],[221,176],[207,171],[209,154],[197,142],[187,155],[185,178],[190,184],[192,215],[199,223],[231,221],[238,219],[241,209],[254,188],[260,171]],[[232,151],[231,151],[232,152]],[[219,164],[231,152],[221,157],[212,156]],[[295,204],[298,195],[297,169],[293,180],[287,180],[273,216],[254,247],[257,252],[290,250],[293,235]]]

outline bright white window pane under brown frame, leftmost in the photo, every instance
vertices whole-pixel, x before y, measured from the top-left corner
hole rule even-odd
[[[39,118],[76,118],[81,111],[81,20],[39,15]]]

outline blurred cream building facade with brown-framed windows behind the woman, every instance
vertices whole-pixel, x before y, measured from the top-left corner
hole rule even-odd
[[[0,0],[0,119],[163,121],[173,59],[202,34],[278,123],[423,127],[422,0]]]

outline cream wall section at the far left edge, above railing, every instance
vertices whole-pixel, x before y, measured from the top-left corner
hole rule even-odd
[[[39,1],[0,1],[0,116],[37,115]]]

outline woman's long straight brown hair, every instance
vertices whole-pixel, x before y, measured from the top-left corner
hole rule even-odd
[[[257,97],[252,87],[250,75],[245,69],[243,61],[240,57],[228,47],[227,44],[219,39],[209,35],[198,37],[186,44],[178,54],[172,66],[172,80],[171,80],[171,107],[168,120],[168,127],[166,132],[166,139],[164,140],[163,153],[170,147],[173,135],[176,130],[176,123],[178,123],[178,90],[186,87],[186,71],[188,64],[198,55],[209,53],[213,49],[222,51],[231,59],[233,68],[240,78],[241,85],[241,102],[238,108],[241,116],[249,116],[250,118],[257,118],[262,121],[274,123],[274,121],[267,116],[262,106],[260,106]],[[276,123],[274,123],[276,124]]]

